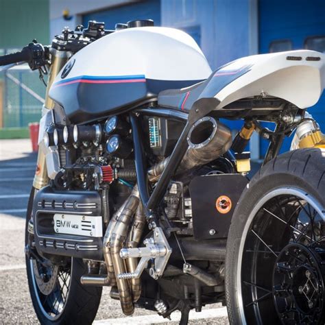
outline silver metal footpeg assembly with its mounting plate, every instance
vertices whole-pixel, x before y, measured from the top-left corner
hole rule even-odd
[[[163,230],[157,227],[153,237],[143,241],[145,247],[123,248],[120,251],[121,258],[141,258],[136,270],[133,273],[121,273],[117,275],[119,279],[140,278],[143,270],[147,267],[149,260],[154,259],[154,267],[149,270],[150,276],[157,279],[163,275],[165,267],[171,256],[171,247],[165,237]]]

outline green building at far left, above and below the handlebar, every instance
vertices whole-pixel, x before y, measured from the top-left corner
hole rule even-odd
[[[49,0],[0,0],[0,21],[0,56],[34,39],[49,43]],[[40,118],[44,97],[38,71],[22,66],[0,73],[0,137],[26,136],[28,123]]]

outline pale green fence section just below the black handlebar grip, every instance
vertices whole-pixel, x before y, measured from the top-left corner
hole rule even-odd
[[[38,71],[30,71],[24,64],[0,72],[0,91],[0,127],[25,128],[28,123],[39,121],[46,88]]]

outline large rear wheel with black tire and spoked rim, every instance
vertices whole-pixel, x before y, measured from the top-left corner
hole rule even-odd
[[[287,194],[280,195],[286,189]],[[295,197],[296,193],[301,193],[302,196],[297,194]],[[310,201],[306,201],[307,199]],[[315,206],[311,202],[315,202]],[[282,221],[274,217],[278,216],[277,213]],[[228,234],[226,302],[230,324],[325,324],[324,215],[325,149],[298,149],[287,152],[267,163],[252,178],[234,210]],[[303,217],[305,224],[299,219]],[[318,217],[320,219],[316,219]],[[313,224],[312,218],[317,224]],[[293,224],[294,222],[296,224]],[[300,300],[298,293],[304,295],[304,292],[300,290],[300,283],[298,286],[295,281],[299,269],[305,267],[304,265],[309,267],[306,262],[309,261],[308,258],[314,261],[314,256],[320,256],[314,254],[316,246],[317,250],[321,249],[323,253],[322,261],[317,259],[315,262],[315,274],[318,276],[320,287],[317,291],[319,296],[313,297],[320,300],[311,298],[310,310],[306,311],[305,306],[309,300],[302,302],[304,296]],[[295,247],[298,249],[295,250]],[[299,258],[306,264],[298,262],[296,257],[291,257],[291,249],[295,254],[301,254]],[[287,265],[292,267],[291,280],[288,280],[288,283],[283,279],[289,279],[289,271],[280,268],[282,261],[285,261],[285,255],[289,256]],[[278,278],[283,282],[283,293],[278,290]],[[260,282],[263,285],[259,285]],[[308,299],[310,297],[308,296]],[[287,305],[289,301],[293,301],[292,309]],[[313,306],[316,305],[318,311],[315,309],[314,312]],[[305,312],[306,318],[299,318]]]

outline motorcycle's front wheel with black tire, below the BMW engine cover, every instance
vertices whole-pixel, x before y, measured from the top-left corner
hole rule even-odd
[[[33,247],[28,232],[34,189],[29,197],[25,245]],[[33,248],[30,249],[33,252]],[[33,306],[41,324],[92,324],[101,298],[101,287],[84,287],[80,277],[86,265],[80,258],[62,258],[58,263],[35,254],[26,256],[27,279]]]

